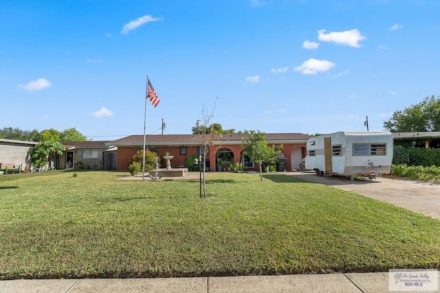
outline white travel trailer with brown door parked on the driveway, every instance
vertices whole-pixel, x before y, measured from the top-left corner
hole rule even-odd
[[[335,132],[307,140],[306,169],[316,175],[368,176],[389,173],[393,161],[391,132]]]

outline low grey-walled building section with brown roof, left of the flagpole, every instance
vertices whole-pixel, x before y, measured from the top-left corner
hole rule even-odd
[[[116,149],[107,141],[61,141],[66,150],[54,160],[56,169],[116,169]]]

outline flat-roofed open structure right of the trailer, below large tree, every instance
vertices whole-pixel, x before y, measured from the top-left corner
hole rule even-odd
[[[440,148],[440,132],[393,132],[394,145]]]

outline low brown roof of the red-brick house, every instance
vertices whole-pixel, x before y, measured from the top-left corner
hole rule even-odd
[[[309,139],[308,134],[303,133],[266,133],[269,143],[302,143]],[[228,144],[241,144],[241,139],[247,139],[248,134],[215,134],[212,139],[214,144],[228,142]],[[154,134],[146,135],[147,145],[200,145],[203,142],[201,134]],[[135,134],[115,141],[109,141],[106,145],[141,145],[144,143],[144,135]]]

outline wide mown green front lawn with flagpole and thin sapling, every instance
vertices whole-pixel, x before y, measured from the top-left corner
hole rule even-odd
[[[0,279],[440,268],[440,221],[284,174],[0,176]]]

